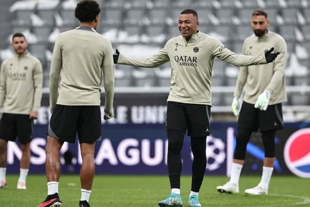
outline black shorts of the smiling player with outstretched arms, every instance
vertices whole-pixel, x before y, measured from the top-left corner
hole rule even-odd
[[[205,137],[210,135],[211,106],[168,101],[167,130],[186,131],[188,136]]]

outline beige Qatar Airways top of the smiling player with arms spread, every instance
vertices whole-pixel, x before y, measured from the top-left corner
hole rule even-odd
[[[211,81],[214,58],[234,65],[266,64],[263,55],[238,55],[219,40],[197,32],[186,41],[184,37],[171,38],[157,54],[145,58],[119,55],[118,64],[157,67],[171,62],[171,90],[168,101],[211,105]]]

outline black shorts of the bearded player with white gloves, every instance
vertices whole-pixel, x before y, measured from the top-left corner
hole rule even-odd
[[[282,104],[269,105],[266,111],[261,111],[254,104],[243,102],[237,127],[250,127],[252,131],[259,128],[261,132],[283,128]]]

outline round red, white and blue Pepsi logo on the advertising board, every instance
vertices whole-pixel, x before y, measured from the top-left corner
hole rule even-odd
[[[310,128],[295,131],[284,146],[288,169],[300,177],[310,177]]]

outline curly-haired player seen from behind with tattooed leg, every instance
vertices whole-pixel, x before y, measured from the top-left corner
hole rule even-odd
[[[49,76],[49,104],[52,113],[46,146],[47,198],[39,207],[58,207],[60,149],[75,143],[76,133],[82,157],[79,207],[90,207],[95,172],[94,147],[101,140],[100,85],[104,79],[105,115],[113,117],[114,64],[111,41],[96,32],[100,6],[81,0],[75,9],[80,26],[59,34]],[[60,79],[60,93],[58,82]]]

